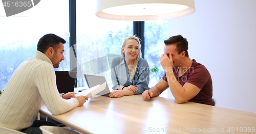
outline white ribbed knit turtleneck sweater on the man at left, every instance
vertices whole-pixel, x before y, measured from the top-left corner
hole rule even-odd
[[[20,130],[32,125],[42,102],[54,114],[76,108],[76,98],[62,99],[51,60],[36,51],[18,66],[0,97],[0,126]]]

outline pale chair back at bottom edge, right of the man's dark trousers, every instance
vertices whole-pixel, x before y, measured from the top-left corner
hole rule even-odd
[[[40,126],[39,129],[42,131],[42,134],[77,134],[78,133],[70,129],[58,127],[58,126]]]

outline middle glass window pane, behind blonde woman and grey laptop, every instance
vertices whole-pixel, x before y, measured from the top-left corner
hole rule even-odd
[[[133,22],[102,19],[95,11],[96,1],[76,1],[77,87],[87,86],[83,74],[92,74],[105,76],[111,89],[108,58],[120,56],[123,39],[133,35]]]

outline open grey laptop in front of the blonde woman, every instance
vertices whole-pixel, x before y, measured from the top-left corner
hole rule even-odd
[[[87,85],[89,88],[106,83],[106,79],[104,76],[84,74],[84,78],[86,78],[86,82],[87,82]],[[97,93],[97,95],[109,97],[110,89],[109,89],[108,84],[106,84],[105,89],[103,91]]]

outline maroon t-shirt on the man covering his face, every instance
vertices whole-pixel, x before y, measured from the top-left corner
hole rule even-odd
[[[173,68],[174,75],[177,81],[183,87],[185,83],[190,83],[197,86],[201,91],[188,101],[197,102],[202,104],[212,104],[212,81],[211,76],[206,67],[200,63],[197,63],[196,60],[193,60],[191,67],[179,77],[178,67]],[[167,82],[166,73],[163,77],[165,82]]]

